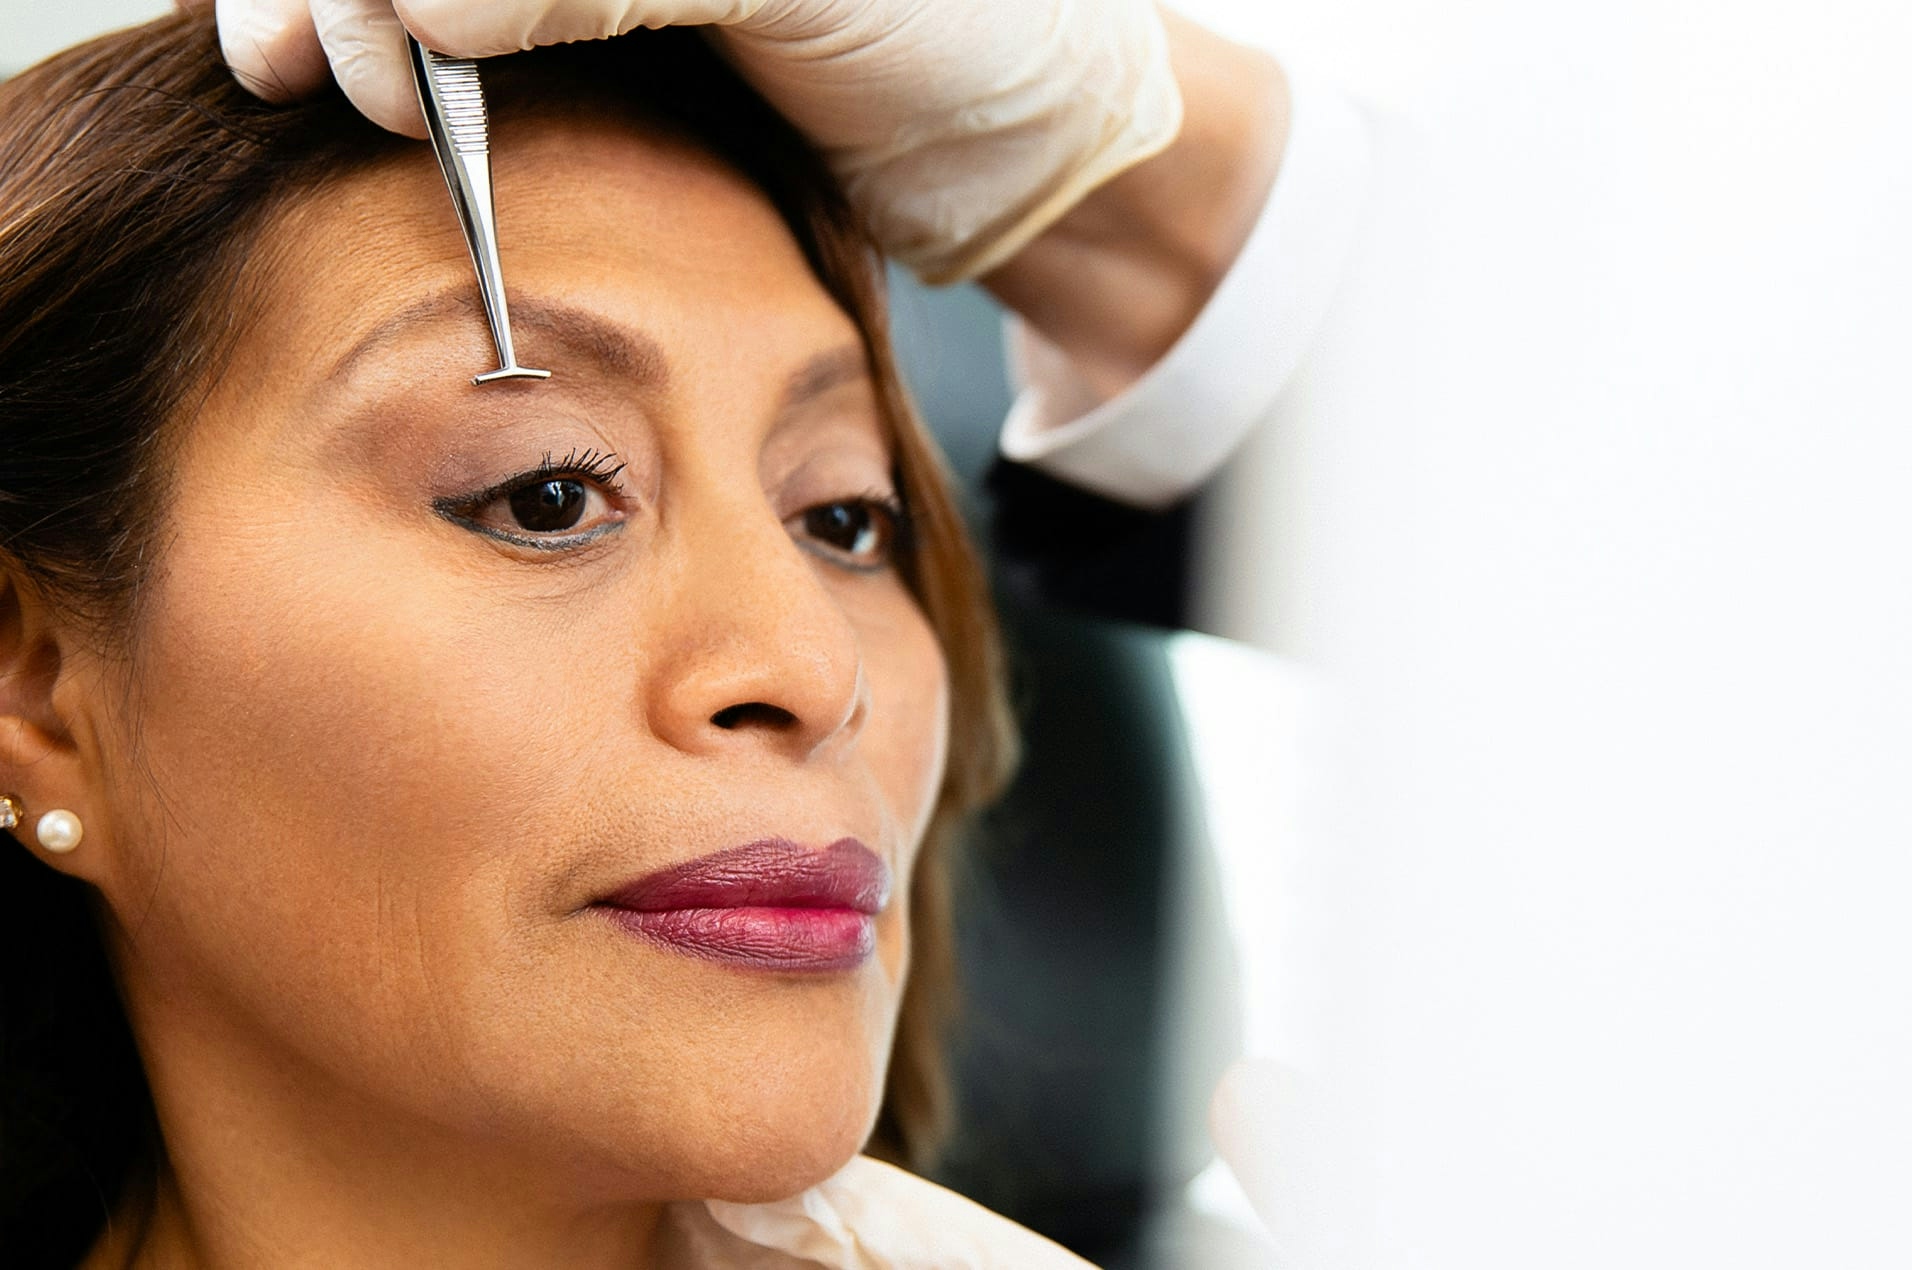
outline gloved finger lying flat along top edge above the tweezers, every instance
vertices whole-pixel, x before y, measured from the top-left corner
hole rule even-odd
[[[763,0],[394,0],[394,8],[440,54],[495,57],[543,44],[604,40],[637,27],[738,23],[763,8]]]

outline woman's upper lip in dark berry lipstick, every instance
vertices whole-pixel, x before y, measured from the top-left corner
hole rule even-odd
[[[644,874],[598,903],[633,912],[853,909],[878,914],[889,903],[889,866],[855,838],[822,849],[765,838]]]

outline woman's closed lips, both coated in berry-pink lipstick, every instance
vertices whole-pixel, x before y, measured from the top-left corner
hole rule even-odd
[[[853,970],[876,951],[889,866],[855,838],[815,851],[782,838],[660,868],[597,901],[677,952],[753,970]]]

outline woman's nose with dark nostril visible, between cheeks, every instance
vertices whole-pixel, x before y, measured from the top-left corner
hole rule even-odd
[[[681,541],[650,727],[688,754],[757,748],[807,761],[855,742],[870,712],[862,641],[769,511]],[[654,646],[656,650],[656,646]]]

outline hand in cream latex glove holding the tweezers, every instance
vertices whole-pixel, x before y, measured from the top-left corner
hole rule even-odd
[[[260,96],[312,92],[329,61],[365,115],[413,136],[405,29],[488,57],[709,23],[931,283],[1002,264],[1182,122],[1153,0],[218,0],[218,21]]]

